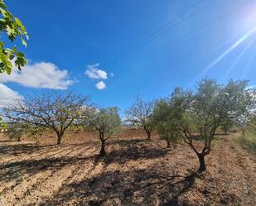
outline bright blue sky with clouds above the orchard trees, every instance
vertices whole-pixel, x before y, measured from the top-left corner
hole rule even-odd
[[[6,2],[27,27],[27,49],[17,46],[30,62],[0,83],[23,96],[67,89],[123,113],[137,93],[165,97],[205,76],[256,84],[254,0]]]

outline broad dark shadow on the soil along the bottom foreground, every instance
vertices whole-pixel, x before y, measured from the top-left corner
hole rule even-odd
[[[106,171],[63,185],[40,205],[181,205],[178,198],[194,184],[195,174],[170,173],[162,173],[159,165],[147,170]]]

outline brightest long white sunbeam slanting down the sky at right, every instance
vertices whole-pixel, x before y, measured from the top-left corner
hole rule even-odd
[[[216,60],[214,60],[207,68],[205,68],[197,77],[200,78],[202,75],[204,75],[205,73],[207,73],[212,67],[214,67],[215,65],[217,65],[220,60],[224,59],[226,55],[229,55],[229,53],[234,50],[236,47],[238,47],[241,43],[243,43],[245,40],[247,40],[252,34],[254,34],[254,31],[256,31],[256,26],[251,29],[250,31],[248,31],[246,34],[244,34],[244,36],[242,36],[238,41],[236,41],[232,46],[229,47],[228,50],[225,50],[224,53],[222,53]]]

